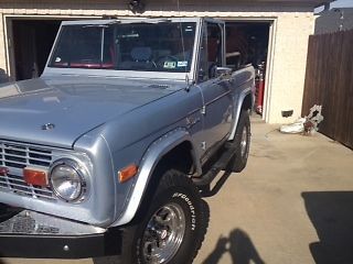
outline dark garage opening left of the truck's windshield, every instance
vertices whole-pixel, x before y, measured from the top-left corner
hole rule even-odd
[[[12,20],[15,80],[41,76],[61,20]]]

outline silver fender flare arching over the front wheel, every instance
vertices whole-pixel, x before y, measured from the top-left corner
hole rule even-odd
[[[118,220],[116,220],[111,227],[127,224],[133,219],[142,201],[157,164],[168,152],[183,142],[191,143],[193,162],[196,166],[197,174],[201,174],[201,164],[197,162],[197,154],[195,153],[195,147],[188,130],[179,128],[164,134],[154,141],[145,153],[140,163],[137,182],[132,187],[132,191],[130,191],[127,206],[125,207],[125,210]]]

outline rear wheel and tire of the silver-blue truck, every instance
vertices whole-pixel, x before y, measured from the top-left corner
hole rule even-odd
[[[249,113],[247,110],[242,110],[235,136],[231,143],[235,151],[228,163],[228,170],[240,173],[245,168],[250,150],[250,135]]]

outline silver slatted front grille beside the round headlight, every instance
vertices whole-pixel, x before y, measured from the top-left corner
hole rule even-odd
[[[9,169],[0,175],[0,189],[36,199],[56,199],[51,188],[29,185],[23,179],[24,167],[47,169],[52,160],[49,148],[0,140],[0,166]]]

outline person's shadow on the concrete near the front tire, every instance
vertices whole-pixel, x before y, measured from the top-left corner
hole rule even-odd
[[[265,264],[249,235],[240,229],[233,230],[229,238],[221,237],[214,251],[202,264],[221,263],[221,258],[225,253],[231,254],[233,264]]]

